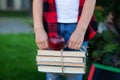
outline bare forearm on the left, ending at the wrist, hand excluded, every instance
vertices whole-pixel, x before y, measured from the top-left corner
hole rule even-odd
[[[43,28],[43,0],[33,0],[33,21],[34,31],[38,32]]]

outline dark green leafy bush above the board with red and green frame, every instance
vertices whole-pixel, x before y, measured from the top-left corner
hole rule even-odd
[[[120,68],[120,40],[110,31],[98,33],[89,43],[92,62]]]

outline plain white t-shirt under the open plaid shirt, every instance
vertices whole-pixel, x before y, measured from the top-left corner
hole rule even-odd
[[[76,23],[78,19],[79,0],[56,0],[58,22]]]

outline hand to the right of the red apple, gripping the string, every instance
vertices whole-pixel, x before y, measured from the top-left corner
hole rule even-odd
[[[80,50],[80,47],[84,40],[84,32],[81,30],[76,30],[73,32],[69,39],[68,47],[71,49]]]

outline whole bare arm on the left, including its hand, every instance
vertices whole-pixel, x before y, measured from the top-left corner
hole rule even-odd
[[[39,49],[48,49],[48,36],[43,26],[43,0],[33,0],[35,41]]]

